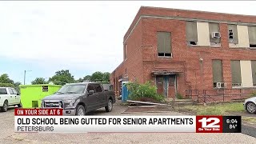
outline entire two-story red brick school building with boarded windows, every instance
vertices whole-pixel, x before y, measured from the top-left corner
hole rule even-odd
[[[141,7],[123,38],[123,62],[110,75],[154,81],[174,98],[198,90],[256,86],[256,16]]]

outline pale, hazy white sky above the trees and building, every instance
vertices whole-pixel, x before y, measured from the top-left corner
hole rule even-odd
[[[112,72],[140,6],[256,15],[254,1],[0,2],[0,75],[26,84],[58,70],[74,78]]]

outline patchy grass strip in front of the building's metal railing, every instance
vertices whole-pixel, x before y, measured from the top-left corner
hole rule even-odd
[[[223,115],[230,112],[244,111],[242,102],[219,103],[210,106],[182,106],[178,111],[185,111],[197,115]]]

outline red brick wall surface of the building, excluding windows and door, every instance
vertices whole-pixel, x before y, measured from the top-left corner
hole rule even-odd
[[[191,86],[192,90],[199,90],[202,94],[202,90],[213,89],[213,59],[222,59],[223,81],[229,89],[232,82],[230,60],[256,60],[256,50],[229,47],[226,23],[219,25],[221,46],[187,46],[185,21],[142,18],[138,22],[142,14],[256,23],[255,16],[142,7],[124,36],[127,59],[111,74],[111,82],[120,74],[125,74],[126,69],[129,80],[137,78],[138,82],[154,81],[155,78],[150,74],[152,70],[178,70],[181,72],[178,76],[178,92],[185,96],[188,86]],[[134,30],[130,33],[133,27]],[[171,33],[173,58],[158,58],[158,31]],[[203,58],[203,62],[199,61],[200,58]]]

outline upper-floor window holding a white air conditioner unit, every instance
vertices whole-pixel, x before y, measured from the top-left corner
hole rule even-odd
[[[214,37],[214,33],[219,33],[218,23],[209,23],[209,33],[210,33],[210,46],[219,46],[221,42],[220,33],[219,37]]]

